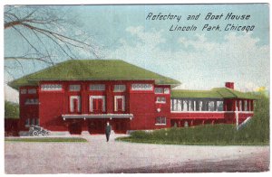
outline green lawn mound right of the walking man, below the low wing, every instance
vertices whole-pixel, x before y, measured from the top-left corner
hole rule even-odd
[[[136,131],[129,137],[119,137],[118,141],[149,144],[189,144],[189,145],[267,145],[268,140],[260,140],[252,135],[237,131],[233,125],[195,126],[189,128],[166,128],[153,132]]]

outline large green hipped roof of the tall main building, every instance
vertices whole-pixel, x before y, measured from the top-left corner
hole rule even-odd
[[[14,89],[37,85],[40,80],[155,80],[158,85],[180,85],[150,70],[121,60],[70,60],[64,61],[9,83]]]

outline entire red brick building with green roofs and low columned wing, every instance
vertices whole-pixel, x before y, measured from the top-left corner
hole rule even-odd
[[[170,126],[236,123],[253,116],[253,97],[226,88],[174,89],[175,79],[125,61],[64,61],[16,79],[20,92],[21,131],[39,125],[80,134],[103,133],[110,121],[115,133]],[[236,107],[238,110],[236,111]]]

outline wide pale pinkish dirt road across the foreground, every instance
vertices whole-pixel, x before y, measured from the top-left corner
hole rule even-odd
[[[5,142],[6,173],[263,172],[269,146]]]

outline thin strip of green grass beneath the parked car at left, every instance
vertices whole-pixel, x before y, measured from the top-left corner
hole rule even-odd
[[[87,142],[81,137],[5,138],[5,142]]]

